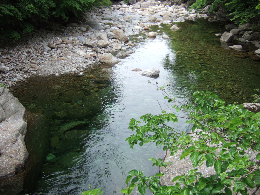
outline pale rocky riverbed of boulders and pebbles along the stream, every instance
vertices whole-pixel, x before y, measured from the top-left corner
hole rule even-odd
[[[137,42],[130,42],[129,37],[135,35],[141,40],[155,37],[157,32],[147,32],[153,25],[169,24],[173,31],[178,30],[172,22],[207,18],[209,21],[222,21],[207,15],[207,7],[202,13],[189,11],[186,4],[176,5],[160,1],[131,1],[133,5],[117,4],[111,8],[96,9],[88,12],[85,21],[70,23],[65,27],[49,26],[49,30],[36,30],[28,40],[14,45],[5,43],[0,49],[0,82],[6,86],[14,86],[32,75],[61,75],[72,73],[82,76],[83,70],[100,63],[116,63],[130,47]],[[162,28],[162,27],[161,27]],[[235,25],[227,29],[238,28]],[[250,30],[239,27],[234,34]],[[163,35],[163,38],[168,38]],[[258,36],[259,38],[259,36]],[[254,42],[256,48],[257,35],[253,31],[246,32],[240,41]],[[118,53],[120,51],[120,53]],[[112,53],[113,55],[110,55]],[[118,53],[118,54],[117,54]],[[114,55],[118,59],[114,57]],[[239,56],[241,57],[241,56]],[[253,57],[259,60],[258,56]]]

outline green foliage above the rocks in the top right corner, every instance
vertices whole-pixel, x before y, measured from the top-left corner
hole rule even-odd
[[[236,24],[248,23],[252,18],[260,15],[258,0],[196,0],[190,8],[199,10],[206,5],[211,5],[210,13],[222,6],[229,13],[228,15],[233,17],[231,20],[235,21]]]

